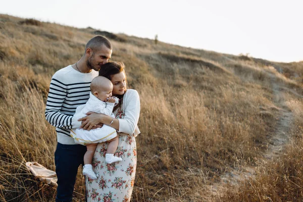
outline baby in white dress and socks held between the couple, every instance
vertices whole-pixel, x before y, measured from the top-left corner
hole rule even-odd
[[[113,84],[109,79],[103,76],[95,77],[90,83],[90,93],[87,103],[77,107],[74,117],[80,119],[85,117],[87,112],[95,112],[112,116],[114,120],[113,109],[115,103],[117,104],[119,100],[118,98],[111,97],[112,90]],[[86,145],[87,151],[84,155],[83,175],[91,179],[97,179],[98,177],[98,174],[95,174],[92,170],[91,162],[99,142],[108,143],[107,154],[105,156],[106,163],[111,164],[122,161],[122,158],[114,156],[119,144],[119,138],[116,129],[110,127],[110,125],[103,125],[102,128],[89,131],[82,128],[77,128],[75,131],[71,130],[71,136],[75,139],[75,142]]]

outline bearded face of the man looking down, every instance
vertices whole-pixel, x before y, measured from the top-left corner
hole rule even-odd
[[[86,65],[89,69],[99,71],[101,66],[106,64],[112,57],[112,50],[105,45],[102,45],[99,51],[90,52],[90,56],[86,61]]]

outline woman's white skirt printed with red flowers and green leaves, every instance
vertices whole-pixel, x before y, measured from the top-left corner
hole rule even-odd
[[[118,133],[119,145],[115,156],[122,161],[112,164],[105,162],[107,143],[99,143],[93,160],[92,167],[99,174],[98,179],[86,177],[87,201],[130,201],[135,181],[137,166],[137,150],[134,135]]]

